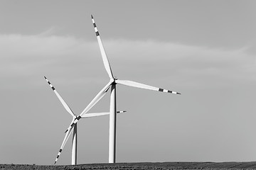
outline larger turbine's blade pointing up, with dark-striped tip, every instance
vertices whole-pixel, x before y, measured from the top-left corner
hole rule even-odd
[[[105,52],[105,50],[104,50],[102,41],[101,41],[101,39],[100,39],[100,33],[99,33],[99,31],[97,30],[96,23],[95,23],[93,17],[92,17],[92,23],[93,23],[93,26],[94,26],[94,28],[95,28],[95,33],[96,33],[96,36],[97,36],[97,42],[99,43],[99,46],[100,46],[100,53],[101,53],[101,55],[102,55],[102,60],[103,60],[105,69],[106,69],[107,74],[109,75],[110,79],[114,79],[113,74],[112,74],[112,70],[111,70],[111,67],[110,67],[110,62],[109,62],[109,60],[107,59],[106,52]]]

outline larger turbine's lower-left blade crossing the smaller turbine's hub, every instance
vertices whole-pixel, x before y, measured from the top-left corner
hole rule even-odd
[[[80,120],[80,118],[82,118],[82,115],[84,115],[85,113],[87,113],[87,111],[90,110],[90,108],[92,108],[93,106],[95,106],[95,104],[100,101],[100,99],[105,96],[106,92],[108,89],[110,89],[110,86],[113,82],[113,79],[110,80],[110,82],[97,94],[97,96],[95,96],[95,98],[92,99],[92,101],[88,104],[88,106],[85,108],[85,110],[82,111],[82,113],[80,115],[78,115],[77,118],[75,118],[75,120],[73,121],[73,123],[71,123],[71,125],[68,127],[68,129],[65,132],[68,132],[68,130],[70,130],[70,128],[72,128],[75,123],[78,122],[78,120]]]

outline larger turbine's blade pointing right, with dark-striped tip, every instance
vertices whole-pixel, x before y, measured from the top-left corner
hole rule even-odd
[[[161,91],[161,92],[171,93],[171,94],[180,94],[180,93],[175,92],[175,91],[169,91],[169,90],[166,90],[166,89],[161,89],[161,88],[154,87],[154,86],[149,86],[149,85],[146,85],[146,84],[140,84],[140,83],[137,83],[137,82],[134,82],[134,81],[129,81],[129,80],[118,80],[117,79],[115,82],[117,84],[122,84],[122,85],[125,85],[125,86],[137,87],[137,88],[141,88],[141,89],[148,89],[148,90],[153,90],[153,91]]]

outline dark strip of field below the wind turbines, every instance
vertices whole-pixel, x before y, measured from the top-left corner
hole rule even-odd
[[[40,166],[28,164],[0,164],[0,169],[256,169],[256,162],[161,162],[161,163],[117,163]]]

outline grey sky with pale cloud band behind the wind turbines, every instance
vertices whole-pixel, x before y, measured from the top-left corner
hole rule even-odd
[[[256,1],[0,0],[0,164],[55,161],[72,117],[112,72],[117,162],[256,159]],[[110,110],[110,94],[90,113]],[[78,122],[78,164],[108,162],[109,117]],[[71,163],[71,140],[57,164]]]

